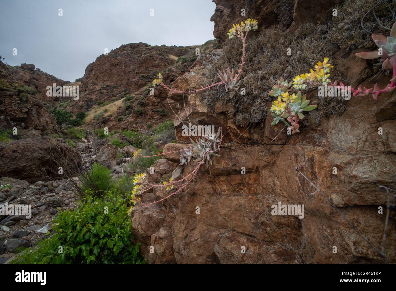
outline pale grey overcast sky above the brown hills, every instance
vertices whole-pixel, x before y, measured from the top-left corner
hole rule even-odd
[[[82,77],[105,48],[190,46],[214,38],[211,0],[2,0],[0,7],[3,62],[34,64],[66,81]]]

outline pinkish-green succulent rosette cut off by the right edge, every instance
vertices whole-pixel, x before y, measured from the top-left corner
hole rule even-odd
[[[377,59],[381,57],[384,60],[382,68],[385,70],[392,69],[396,55],[396,23],[393,24],[388,37],[383,34],[371,34],[371,38],[373,38],[377,47],[382,49],[382,55],[378,50],[355,53],[355,55],[362,59]]]

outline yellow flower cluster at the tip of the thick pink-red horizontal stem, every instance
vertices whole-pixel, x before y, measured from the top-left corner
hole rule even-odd
[[[323,85],[331,82],[330,69],[334,68],[329,63],[329,58],[325,57],[322,62],[318,62],[315,65],[315,71],[310,69],[309,73],[301,74],[293,78],[293,87],[297,90],[305,89],[307,84],[322,83]]]

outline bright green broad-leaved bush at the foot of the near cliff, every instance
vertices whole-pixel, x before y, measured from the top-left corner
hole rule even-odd
[[[128,205],[112,190],[103,198],[87,190],[76,210],[59,213],[52,224],[55,234],[27,249],[13,264],[142,264],[139,244],[131,243]],[[59,253],[59,246],[63,251]]]

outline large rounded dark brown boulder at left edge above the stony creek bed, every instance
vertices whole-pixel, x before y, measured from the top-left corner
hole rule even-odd
[[[0,176],[29,182],[66,177],[80,164],[78,151],[61,139],[34,137],[0,143]],[[62,167],[63,174],[59,174]]]

